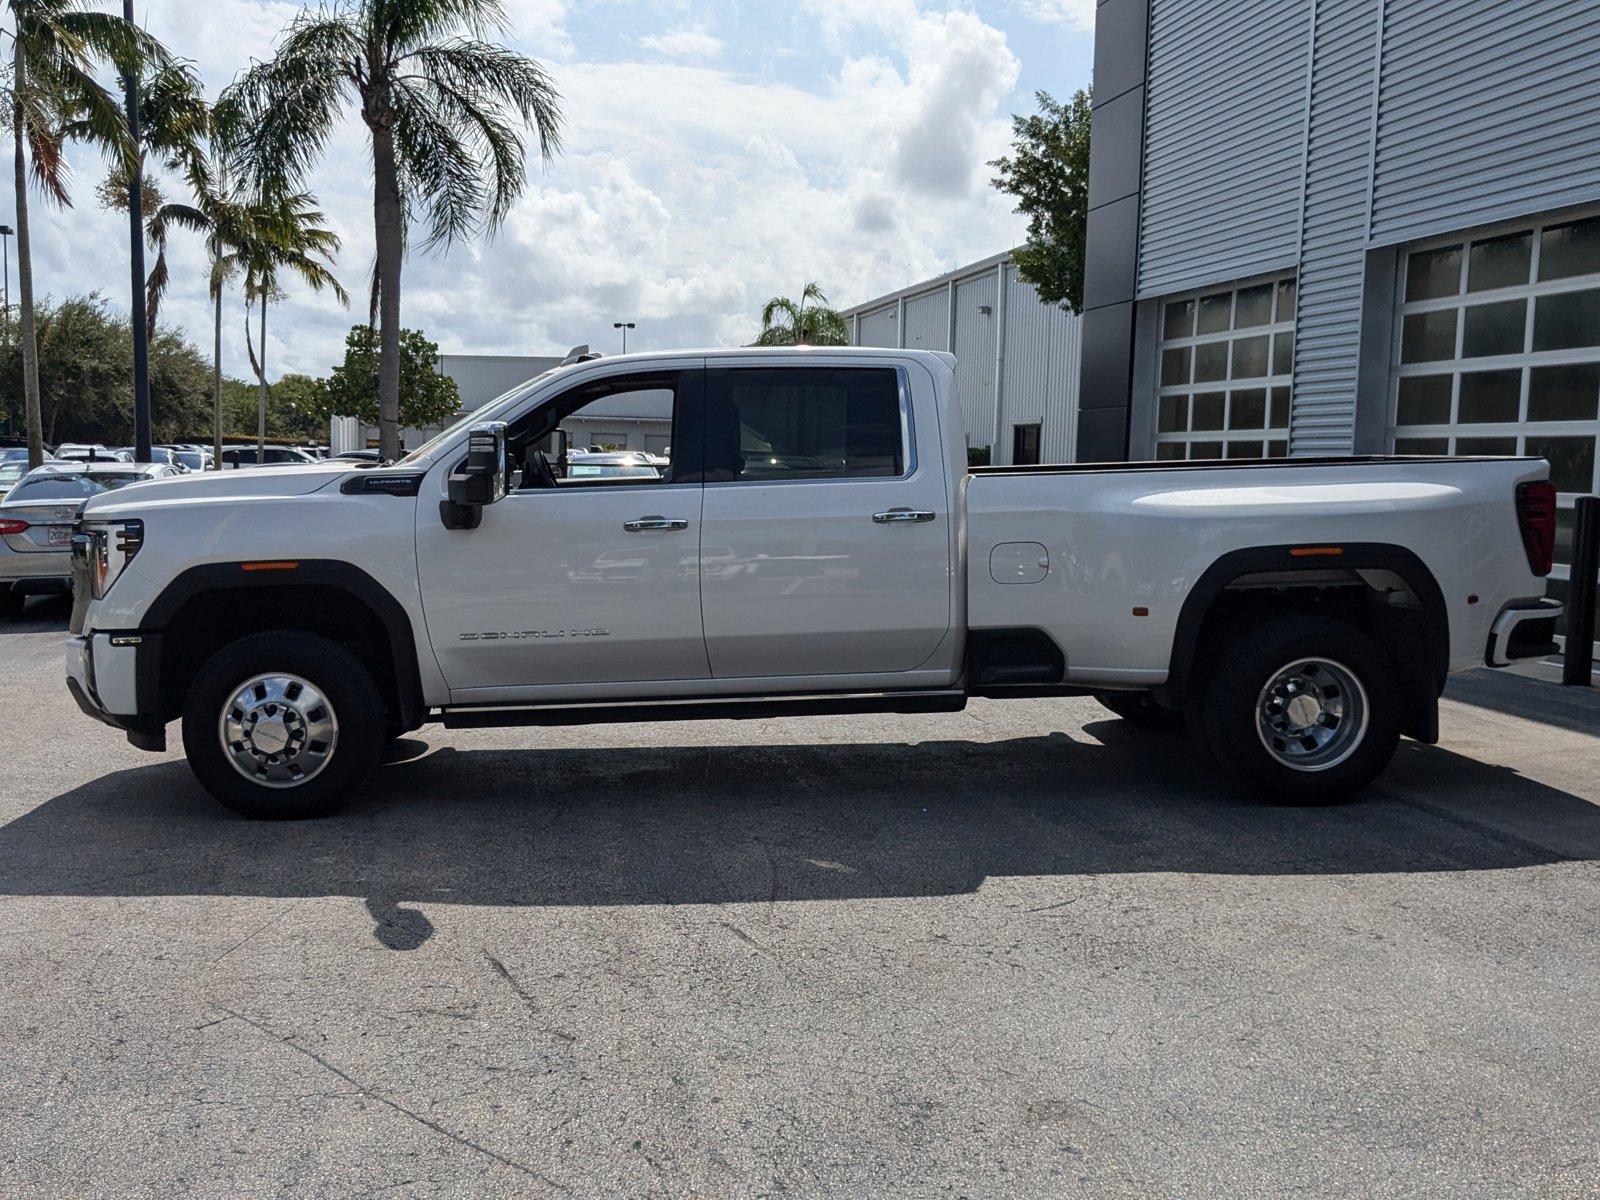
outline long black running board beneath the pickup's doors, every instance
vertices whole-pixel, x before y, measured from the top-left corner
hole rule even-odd
[[[730,696],[726,699],[661,699],[622,704],[494,704],[435,710],[446,730],[514,725],[624,725],[629,722],[762,720],[834,717],[853,712],[960,712],[963,691],[874,691],[821,696]]]

